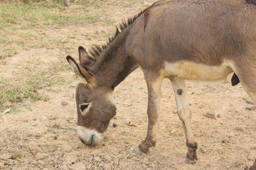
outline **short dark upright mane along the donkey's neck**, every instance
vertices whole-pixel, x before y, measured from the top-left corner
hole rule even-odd
[[[145,10],[144,10],[145,11]],[[139,18],[139,16],[142,15],[142,13],[144,13],[144,11],[140,11],[136,16],[132,17],[132,18],[128,18],[127,21],[122,21],[122,23],[119,23],[119,26],[116,26],[116,33],[110,37],[107,40],[107,43],[105,45],[93,45],[93,47],[91,47],[91,49],[88,52],[87,55],[87,59],[86,60],[82,60],[82,62],[80,62],[80,64],[82,65],[82,67],[86,67],[90,64],[93,64],[94,62],[97,62],[97,58],[100,57],[100,53],[107,49],[107,46],[111,44],[111,42],[113,42],[117,36],[122,33],[122,31],[127,28],[128,26],[130,26],[132,23],[134,23],[134,21]]]

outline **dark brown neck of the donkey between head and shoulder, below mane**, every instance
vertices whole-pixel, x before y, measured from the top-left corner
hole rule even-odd
[[[108,86],[113,89],[134,69],[137,69],[137,64],[125,49],[127,35],[129,35],[129,28],[107,46],[95,64],[93,74],[99,86]]]

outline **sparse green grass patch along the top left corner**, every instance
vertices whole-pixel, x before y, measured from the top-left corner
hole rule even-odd
[[[73,23],[90,23],[99,21],[100,17],[87,13],[65,13],[63,6],[43,6],[43,3],[1,3],[0,28],[17,26],[27,29],[40,26],[64,25]]]

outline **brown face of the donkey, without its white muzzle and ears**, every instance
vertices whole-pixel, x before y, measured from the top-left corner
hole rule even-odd
[[[116,107],[110,101],[112,89],[92,89],[85,84],[78,84],[76,103],[78,110],[78,125],[105,132],[110,119],[116,114]]]

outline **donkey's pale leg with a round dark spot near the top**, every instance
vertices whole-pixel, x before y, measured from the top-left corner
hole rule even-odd
[[[188,147],[186,157],[191,161],[195,161],[198,159],[196,156],[196,149],[198,148],[198,145],[191,130],[191,109],[188,103],[186,84],[183,79],[174,78],[170,80],[176,98],[178,117],[183,123],[183,128],[185,130],[186,145]]]

